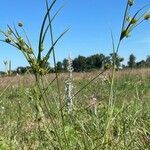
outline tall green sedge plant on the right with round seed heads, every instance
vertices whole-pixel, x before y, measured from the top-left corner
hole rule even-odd
[[[141,9],[137,10],[134,15],[131,15],[130,10],[134,6],[134,3],[135,3],[134,0],[127,0],[123,24],[122,24],[121,33],[120,33],[117,45],[115,45],[114,37],[113,37],[113,34],[111,33],[112,47],[113,47],[112,48],[112,50],[113,50],[113,55],[112,55],[113,69],[112,69],[112,79],[111,79],[110,95],[109,95],[108,121],[107,121],[107,125],[106,125],[105,138],[103,141],[106,143],[110,140],[111,124],[113,123],[112,120],[115,119],[115,117],[113,116],[114,105],[115,105],[115,93],[114,93],[115,64],[116,64],[117,54],[119,52],[120,44],[121,44],[123,39],[128,38],[130,36],[131,32],[138,25],[140,25],[143,21],[149,20],[149,9],[148,9],[148,7],[150,5],[145,5]]]

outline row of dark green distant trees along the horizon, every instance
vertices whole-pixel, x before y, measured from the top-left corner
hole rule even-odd
[[[141,61],[136,61],[134,54],[130,54],[128,62],[126,65],[123,64],[124,58],[118,54],[111,53],[109,56],[104,54],[94,54],[88,57],[79,55],[72,60],[72,68],[74,72],[89,72],[104,68],[110,68],[114,63],[116,69],[133,69],[133,68],[150,68],[150,55],[146,59]],[[50,63],[47,63],[47,68],[49,73],[55,72],[67,72],[68,70],[68,59],[63,59],[63,61],[58,61],[55,67],[52,67]],[[12,74],[25,74],[33,73],[31,67],[18,67],[16,70],[11,71]],[[0,74],[5,74],[5,72],[0,72]]]

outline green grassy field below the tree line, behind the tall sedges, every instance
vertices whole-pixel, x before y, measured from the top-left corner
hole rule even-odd
[[[73,73],[73,92],[96,74]],[[150,149],[150,69],[116,72],[113,105],[109,105],[110,72],[106,72],[76,95],[71,114],[65,107],[67,76],[59,75],[64,107],[60,110],[54,81],[45,94],[48,111],[38,101],[32,75],[0,78],[0,150]],[[45,76],[44,84],[53,79],[53,74]],[[96,104],[91,102],[93,98]],[[37,103],[42,106],[44,117]]]

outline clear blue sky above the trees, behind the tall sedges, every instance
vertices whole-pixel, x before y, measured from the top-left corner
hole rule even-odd
[[[51,1],[51,0],[49,0]],[[150,0],[136,0],[133,12]],[[65,4],[54,22],[54,36],[58,37],[64,29],[70,28],[56,47],[57,60],[75,58],[79,54],[89,56],[95,53],[109,55],[112,52],[110,28],[115,41],[120,32],[126,0],[58,0],[54,11]],[[3,0],[0,5],[0,29],[7,30],[7,24],[22,21],[35,51],[38,47],[39,29],[45,14],[44,0]],[[119,54],[128,60],[134,53],[137,60],[150,55],[150,22],[136,28],[132,36],[125,39]],[[4,70],[3,60],[11,60],[15,69],[28,63],[17,49],[0,43],[0,70]]]

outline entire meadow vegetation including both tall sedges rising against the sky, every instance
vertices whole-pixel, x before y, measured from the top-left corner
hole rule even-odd
[[[127,0],[118,42],[110,32],[109,64],[103,60],[97,71],[74,73],[69,58],[67,71],[60,73],[55,46],[68,29],[54,39],[57,1],[45,0],[37,51],[22,22],[0,30],[0,41],[18,49],[32,70],[13,76],[9,67],[0,77],[0,150],[149,150],[150,69],[117,65],[122,41],[150,19],[149,5],[133,15],[134,0]],[[55,73],[49,73],[50,58]]]

